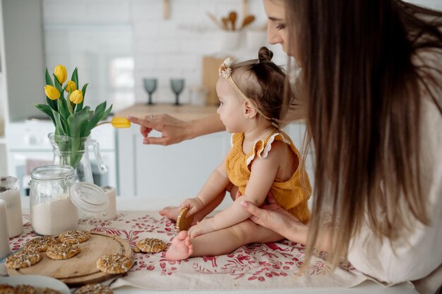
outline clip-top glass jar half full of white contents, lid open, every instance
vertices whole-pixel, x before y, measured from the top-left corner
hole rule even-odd
[[[40,166],[31,171],[30,215],[38,235],[78,228],[79,215],[107,214],[109,200],[92,183],[76,183],[72,166]]]

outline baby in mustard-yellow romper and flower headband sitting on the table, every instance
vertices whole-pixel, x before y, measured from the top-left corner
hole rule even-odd
[[[179,211],[189,207],[186,217],[193,216],[189,231],[172,240],[167,259],[224,255],[249,243],[282,240],[278,233],[249,220],[251,214],[241,208],[243,200],[260,206],[269,192],[289,214],[302,223],[309,220],[309,178],[297,148],[280,130],[293,93],[285,93],[287,77],[272,56],[261,47],[258,59],[236,64],[226,59],[220,66],[217,113],[232,133],[232,148],[196,197],[160,211],[176,221]],[[226,191],[237,195],[237,190],[241,196],[227,209],[204,219]]]

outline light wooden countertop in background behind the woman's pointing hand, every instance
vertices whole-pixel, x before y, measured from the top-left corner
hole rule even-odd
[[[182,104],[179,106],[173,104],[135,104],[117,112],[115,116],[135,116],[138,118],[144,118],[150,114],[170,114],[175,118],[187,121],[213,114],[216,112],[217,108],[217,106],[196,106],[190,104]]]

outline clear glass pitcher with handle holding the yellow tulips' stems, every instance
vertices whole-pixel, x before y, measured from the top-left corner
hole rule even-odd
[[[49,133],[48,137],[54,151],[54,164],[72,166],[77,182],[94,183],[89,159],[89,147],[94,149],[98,171],[100,173],[107,172],[101,158],[100,145],[97,141],[90,139],[90,137],[69,137],[54,135],[54,133]]]

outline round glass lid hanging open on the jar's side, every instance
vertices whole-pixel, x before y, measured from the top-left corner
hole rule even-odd
[[[99,186],[80,182],[71,185],[69,192],[72,203],[79,209],[85,212],[107,214],[109,199]]]

